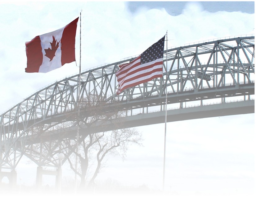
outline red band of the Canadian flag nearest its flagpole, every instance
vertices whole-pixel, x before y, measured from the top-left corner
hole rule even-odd
[[[66,25],[61,37],[61,65],[75,61],[75,35],[78,18]]]

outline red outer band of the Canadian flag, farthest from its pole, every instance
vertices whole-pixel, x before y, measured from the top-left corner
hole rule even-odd
[[[27,68],[26,73],[38,73],[39,67],[43,62],[43,53],[41,47],[41,40],[39,36],[34,37],[29,42],[25,43],[27,54]]]

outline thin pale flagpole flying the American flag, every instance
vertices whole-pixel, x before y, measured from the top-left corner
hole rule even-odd
[[[166,87],[165,87],[165,125],[164,125],[164,172],[163,172],[163,191],[164,191],[164,181],[165,181],[165,152],[166,152],[166,122],[167,122],[167,79],[168,79],[168,69],[167,69],[167,31],[166,31]]]

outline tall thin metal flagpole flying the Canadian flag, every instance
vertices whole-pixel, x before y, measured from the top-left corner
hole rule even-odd
[[[77,133],[76,133],[76,152],[78,153],[78,145],[79,145],[79,116],[80,116],[80,85],[81,85],[81,12],[80,12],[80,62],[79,62],[79,82],[78,82],[78,98],[77,98],[77,107],[78,107],[78,112],[77,112]],[[77,163],[78,163],[78,158],[76,155],[76,160],[75,160],[75,193],[77,190]]]

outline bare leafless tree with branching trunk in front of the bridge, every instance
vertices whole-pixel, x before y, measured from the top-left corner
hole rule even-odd
[[[115,109],[106,110],[106,102],[102,102],[98,97],[84,98],[81,102],[80,110],[82,117],[79,120],[79,127],[84,125],[92,127],[97,122],[103,124],[105,121],[116,120],[123,116],[123,112]],[[83,115],[84,114],[84,115]],[[114,124],[114,123],[113,123]],[[119,122],[119,125],[122,123]],[[82,127],[83,125],[83,127]],[[100,172],[103,160],[107,154],[126,156],[128,146],[131,144],[141,145],[141,133],[135,128],[122,128],[103,132],[82,132],[79,135],[79,148],[76,151],[74,145],[69,146],[73,149],[73,156],[68,157],[70,168],[81,178],[80,189],[85,186],[92,186],[95,178]],[[74,156],[79,160],[79,168],[75,168]],[[92,165],[95,163],[95,165]]]

